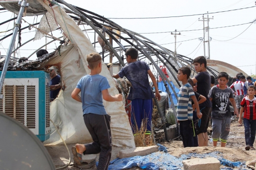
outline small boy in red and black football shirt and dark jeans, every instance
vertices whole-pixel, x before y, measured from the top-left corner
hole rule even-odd
[[[242,123],[242,114],[244,112],[244,126],[245,126],[245,140],[246,150],[255,150],[253,143],[256,133],[256,97],[254,93],[256,87],[249,85],[247,89],[247,96],[243,98],[241,102],[241,110],[239,114],[238,122]]]

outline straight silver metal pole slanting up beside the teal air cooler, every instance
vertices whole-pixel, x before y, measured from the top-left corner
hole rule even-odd
[[[17,23],[14,26],[13,34],[12,34],[12,37],[11,37],[11,42],[10,42],[9,49],[7,51],[7,54],[6,54],[4,67],[3,67],[2,74],[1,74],[1,77],[0,77],[0,89],[2,89],[2,87],[3,87],[5,75],[6,75],[6,72],[7,72],[8,65],[9,65],[10,55],[11,55],[11,52],[12,52],[12,49],[13,49],[13,46],[14,46],[14,41],[15,41],[17,33],[18,33],[18,28],[20,26],[20,21],[21,21],[21,18],[22,18],[22,14],[24,12],[24,9],[29,6],[29,3],[27,3],[26,0],[18,1],[18,6],[20,6],[20,9],[19,9],[18,17],[17,17]],[[0,99],[3,99],[3,94],[0,95]]]

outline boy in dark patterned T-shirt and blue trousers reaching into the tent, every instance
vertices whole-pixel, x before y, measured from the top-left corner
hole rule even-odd
[[[123,67],[119,73],[113,77],[123,78],[126,76],[127,79],[131,82],[132,86],[130,87],[130,92],[127,99],[131,100],[132,130],[135,134],[137,130],[141,130],[141,124],[146,122],[145,143],[148,145],[148,137],[151,135],[151,118],[153,110],[152,98],[154,97],[148,81],[148,75],[150,76],[153,85],[155,86],[155,98],[161,100],[161,95],[158,92],[155,76],[151,72],[146,62],[137,60],[138,51],[135,48],[129,48],[125,52],[125,55],[128,65]]]

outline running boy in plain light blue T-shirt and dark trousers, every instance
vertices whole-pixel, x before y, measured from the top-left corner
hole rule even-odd
[[[108,170],[112,143],[110,131],[110,115],[106,113],[102,97],[105,101],[122,101],[122,95],[110,95],[108,79],[99,75],[101,73],[101,56],[98,53],[90,53],[87,56],[89,75],[83,76],[71,96],[74,100],[82,102],[84,123],[91,134],[93,142],[90,144],[75,144],[72,147],[74,161],[81,165],[83,154],[100,153],[97,170]],[[79,93],[81,92],[81,96]]]

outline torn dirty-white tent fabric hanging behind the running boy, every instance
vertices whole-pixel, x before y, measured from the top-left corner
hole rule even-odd
[[[62,8],[59,8],[57,5],[50,8],[48,1],[38,1],[52,16],[55,16],[55,20],[72,42],[67,46],[62,46],[60,51],[56,52],[55,56],[42,63],[42,67],[55,65],[59,68],[62,83],[65,87],[64,91],[60,91],[57,99],[51,102],[50,117],[59,128],[66,143],[89,142],[91,141],[91,136],[83,122],[82,103],[73,100],[71,93],[79,79],[90,73],[90,69],[87,67],[86,56],[91,52],[97,51],[93,48],[91,42],[86,38],[79,26],[77,26]],[[103,61],[101,75],[106,76],[109,80],[110,94],[117,94],[116,84]],[[110,127],[113,146],[134,148],[134,136],[122,102],[104,101],[103,104],[107,113],[111,116]],[[51,128],[53,132],[50,139],[45,141],[44,144],[61,144],[62,141],[54,131],[53,125],[51,125]]]

